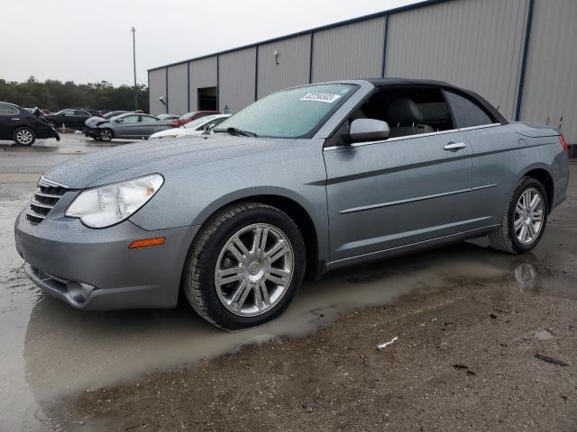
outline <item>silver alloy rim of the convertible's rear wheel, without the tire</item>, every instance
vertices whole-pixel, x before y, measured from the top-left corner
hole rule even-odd
[[[521,193],[515,206],[513,229],[522,245],[529,245],[539,236],[543,227],[545,206],[543,196],[535,188]]]

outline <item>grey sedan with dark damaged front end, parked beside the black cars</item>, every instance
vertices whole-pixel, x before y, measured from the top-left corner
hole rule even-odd
[[[148,114],[129,112],[111,119],[101,119],[85,129],[85,135],[102,141],[114,138],[148,138],[154,132],[169,129],[168,121]]]

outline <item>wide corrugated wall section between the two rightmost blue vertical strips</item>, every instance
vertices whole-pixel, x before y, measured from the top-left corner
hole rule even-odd
[[[392,14],[386,76],[461,85],[511,119],[527,12],[528,0],[460,0]]]

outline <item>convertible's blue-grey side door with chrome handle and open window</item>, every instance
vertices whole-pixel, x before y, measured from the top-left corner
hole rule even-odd
[[[333,264],[423,247],[477,226],[468,206],[472,148],[453,127],[438,89],[394,90],[406,91],[413,92],[415,100],[433,98],[434,103],[419,104],[415,110],[426,107],[436,117],[429,115],[428,124],[391,124],[393,138],[325,147]],[[384,102],[372,103],[375,106],[369,118],[379,118],[375,115],[380,111],[394,112],[392,101],[398,97],[382,93]],[[381,108],[384,103],[388,103],[387,110]],[[415,103],[411,103],[413,107]],[[388,115],[392,114],[381,118]],[[417,116],[424,118],[421,112]],[[388,121],[392,122],[392,117]],[[421,127],[427,131],[420,132]]]

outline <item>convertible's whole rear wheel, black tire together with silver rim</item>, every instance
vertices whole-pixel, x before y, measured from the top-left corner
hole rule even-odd
[[[541,200],[540,207],[537,206],[541,212],[540,220],[537,214],[539,209],[532,211],[523,208],[524,200],[527,199],[527,193],[532,197],[528,201],[533,201],[536,195],[538,195]],[[522,199],[524,194],[526,198]],[[519,204],[519,207],[517,207],[517,204]],[[507,203],[505,216],[501,221],[499,229],[489,234],[491,246],[509,254],[522,254],[533,249],[539,243],[539,240],[545,232],[548,209],[549,202],[543,184],[535,178],[523,177],[517,184],[515,191]],[[530,218],[531,222],[528,222],[527,218]],[[516,220],[517,227],[520,227],[520,229],[516,229]],[[525,222],[523,220],[525,220]],[[536,221],[540,221],[538,229],[535,228]],[[528,227],[529,223],[533,227],[533,232],[536,231],[536,235],[530,235],[531,230]],[[521,240],[521,238],[523,238],[523,226],[525,226],[525,233],[528,236],[526,241]]]

